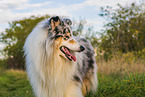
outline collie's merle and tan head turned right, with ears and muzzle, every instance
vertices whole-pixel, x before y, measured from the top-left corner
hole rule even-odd
[[[55,48],[59,56],[66,58],[70,61],[76,61],[75,52],[81,52],[85,48],[79,44],[74,38],[71,31],[71,20],[60,19],[58,16],[52,17],[49,20],[51,26],[51,33]]]

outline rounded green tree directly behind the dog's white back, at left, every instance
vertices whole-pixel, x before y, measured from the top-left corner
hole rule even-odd
[[[26,37],[36,26],[36,24],[49,16],[35,17],[31,16],[28,19],[22,19],[9,23],[10,28],[7,28],[0,36],[0,41],[6,44],[2,53],[6,57],[8,68],[25,69],[23,45]]]

